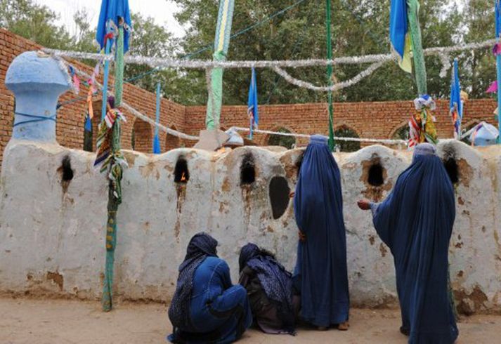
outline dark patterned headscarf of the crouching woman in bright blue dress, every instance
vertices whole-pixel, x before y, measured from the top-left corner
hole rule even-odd
[[[169,307],[169,319],[174,328],[182,326],[183,329],[192,330],[193,324],[190,320],[190,298],[193,290],[193,275],[197,267],[208,256],[217,256],[217,241],[209,234],[200,232],[191,238],[186,257],[179,265],[179,277],[176,292]],[[175,331],[174,331],[175,332]]]

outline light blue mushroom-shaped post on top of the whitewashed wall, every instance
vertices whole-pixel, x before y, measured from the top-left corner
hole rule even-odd
[[[12,137],[56,142],[56,106],[70,88],[67,72],[53,58],[28,51],[8,67],[5,84],[15,95]]]

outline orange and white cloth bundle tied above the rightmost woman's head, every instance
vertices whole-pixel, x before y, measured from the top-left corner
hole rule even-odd
[[[432,143],[436,145],[438,135],[435,128],[435,117],[431,111],[436,109],[434,100],[427,94],[414,100],[416,113],[409,120],[409,147],[419,143]]]

